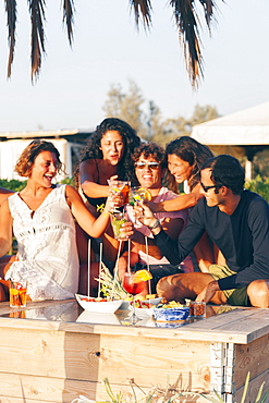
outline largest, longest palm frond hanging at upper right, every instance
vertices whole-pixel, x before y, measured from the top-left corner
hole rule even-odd
[[[204,76],[200,39],[197,26],[197,14],[194,0],[170,0],[173,8],[175,23],[183,44],[186,70],[193,87],[197,86],[199,77]]]

